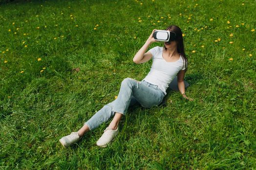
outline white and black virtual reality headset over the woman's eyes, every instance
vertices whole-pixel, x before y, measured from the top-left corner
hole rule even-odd
[[[176,34],[166,30],[155,30],[153,33],[153,38],[156,41],[164,41],[170,43],[171,41],[175,41]]]

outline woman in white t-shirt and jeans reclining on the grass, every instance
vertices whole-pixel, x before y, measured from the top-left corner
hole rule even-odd
[[[60,139],[64,147],[77,142],[85,133],[114,116],[107,129],[104,130],[104,134],[96,142],[98,146],[106,147],[118,134],[118,123],[126,114],[128,106],[136,102],[146,108],[158,105],[162,102],[166,95],[166,89],[176,75],[180,93],[184,98],[192,100],[185,94],[184,76],[188,60],[184,52],[182,32],[175,25],[169,26],[166,30],[176,34],[175,41],[165,42],[164,47],[154,47],[146,52],[149,45],[156,42],[152,36],[155,31],[153,30],[146,43],[133,58],[133,62],[136,64],[145,63],[152,58],[153,63],[149,74],[141,82],[131,78],[124,79],[115,101],[108,103],[99,110],[91,119],[85,122],[78,132],[72,132]]]

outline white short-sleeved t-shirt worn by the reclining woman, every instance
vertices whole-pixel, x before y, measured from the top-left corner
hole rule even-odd
[[[167,62],[163,58],[163,47],[154,47],[149,50],[152,56],[152,66],[148,75],[143,79],[158,87],[166,94],[166,89],[180,70],[186,69],[185,61],[180,58],[175,62]]]

